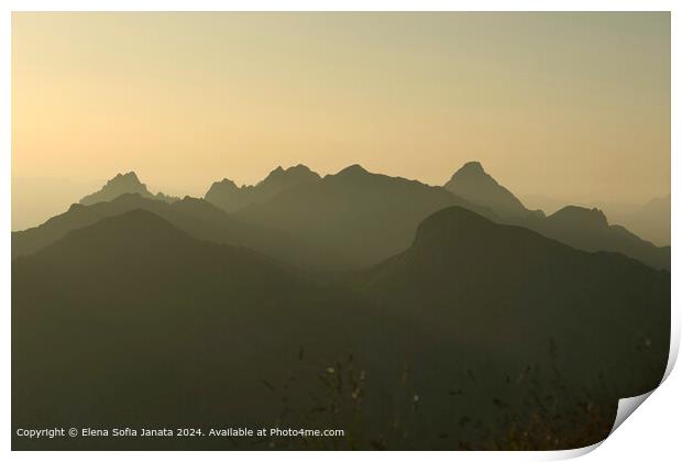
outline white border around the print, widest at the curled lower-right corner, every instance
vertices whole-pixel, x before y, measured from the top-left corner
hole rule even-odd
[[[672,127],[679,127],[679,108],[680,92],[678,91],[682,74],[680,73],[680,26],[682,21],[682,6],[679,1],[664,0],[345,0],[345,1],[314,1],[314,0],[252,0],[252,1],[234,1],[234,0],[99,0],[97,2],[86,0],[10,0],[2,3],[2,12],[0,15],[0,63],[2,72],[0,73],[0,101],[2,111],[0,112],[0,146],[2,146],[2,158],[0,162],[1,175],[0,184],[0,204],[2,204],[2,212],[0,213],[0,226],[4,230],[3,239],[0,241],[0,296],[2,297],[3,319],[0,329],[2,329],[2,341],[0,349],[2,351],[2,422],[0,428],[0,441],[2,441],[2,452],[10,451],[11,435],[11,415],[10,415],[10,217],[11,217],[11,82],[10,82],[10,64],[11,64],[11,11],[377,11],[377,10],[397,10],[397,11],[671,11],[672,21]],[[679,130],[678,130],[679,131]],[[673,242],[676,243],[678,231],[680,228],[680,205],[676,198],[681,197],[681,186],[679,182],[680,173],[680,136],[676,131],[672,130],[672,235]],[[642,154],[642,160],[645,158]],[[672,248],[672,321],[673,336],[671,343],[670,363],[667,371],[667,377],[672,370],[674,360],[679,352],[680,341],[680,318],[678,310],[678,301],[680,300],[681,278],[676,271],[676,262],[680,261],[680,252],[675,246]],[[612,437],[603,444],[602,449],[590,454],[591,460],[641,460],[642,458],[652,458],[653,460],[672,460],[678,454],[676,449],[676,416],[681,408],[680,398],[682,392],[682,380],[679,373],[668,377],[663,386],[652,394],[652,397],[642,405],[642,409],[638,410],[638,416],[628,419]],[[594,449],[594,448],[592,448]],[[429,452],[420,454],[440,460],[451,460],[453,457],[458,460],[554,460],[565,459],[581,455],[590,452],[591,449],[575,451],[559,452],[516,452],[516,453],[471,453],[471,452]],[[317,460],[320,457],[329,459],[345,459],[349,455],[353,458],[369,459],[374,458],[376,453],[312,453],[312,452],[277,452],[272,453],[273,457],[290,461]],[[36,460],[44,457],[50,460],[90,460],[92,458],[101,460],[118,460],[122,457],[132,460],[185,460],[185,459],[224,459],[238,457],[242,460],[260,460],[268,457],[268,453],[261,452],[242,452],[242,453],[215,453],[215,452],[127,452],[127,453],[87,453],[87,452],[13,452],[12,458],[22,460]],[[394,453],[392,457],[400,460],[411,459],[410,452]]]

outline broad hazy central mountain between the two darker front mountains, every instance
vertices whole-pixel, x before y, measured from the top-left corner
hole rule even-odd
[[[245,207],[235,217],[286,231],[345,257],[330,267],[358,268],[407,249],[424,218],[452,205],[491,213],[443,188],[353,165]]]

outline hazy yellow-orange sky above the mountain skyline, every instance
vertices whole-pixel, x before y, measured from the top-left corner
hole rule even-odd
[[[154,191],[304,163],[670,190],[668,13],[14,13],[12,175]],[[75,198],[74,200],[77,200]]]

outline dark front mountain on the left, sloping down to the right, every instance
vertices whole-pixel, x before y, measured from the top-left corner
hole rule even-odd
[[[304,409],[294,400],[316,389],[318,371],[349,352],[374,363],[372,332],[385,332],[380,351],[399,351],[399,324],[267,256],[197,241],[148,211],[124,212],[13,262],[13,425],[255,428],[279,421],[284,405],[272,388],[294,371],[315,372],[289,398]],[[395,362],[384,360],[381,367]],[[316,425],[294,424],[306,421]],[[15,449],[197,443],[234,444],[14,440]]]

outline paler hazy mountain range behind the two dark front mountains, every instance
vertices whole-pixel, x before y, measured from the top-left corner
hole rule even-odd
[[[129,173],[119,174],[80,202],[98,205],[124,194],[178,201],[161,193],[152,195],[134,173]],[[278,167],[255,186],[237,187],[223,179],[210,187],[204,200],[185,198],[182,202],[182,211],[180,207],[173,210],[185,217],[180,228],[193,235],[246,245],[310,268],[349,270],[378,263],[407,249],[421,220],[455,205],[580,250],[618,252],[654,268],[670,268],[669,246],[656,246],[620,226],[609,224],[596,209],[566,206],[549,217],[540,210],[528,210],[477,162],[466,163],[442,188],[373,174],[359,165],[323,178],[304,165]],[[161,206],[128,199],[106,215],[110,216],[111,210]],[[82,226],[82,218],[76,218],[78,213],[89,215],[84,222],[91,223],[102,211],[69,210],[34,230],[14,232],[13,255],[33,252]],[[198,215],[210,218],[198,220]],[[172,222],[177,223],[177,219]],[[226,228],[216,222],[231,224]],[[216,227],[222,227],[222,231]]]

